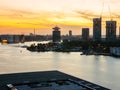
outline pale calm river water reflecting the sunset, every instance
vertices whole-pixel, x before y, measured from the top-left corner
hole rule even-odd
[[[0,45],[0,74],[59,70],[112,90],[120,90],[119,58],[81,56],[79,52],[30,52],[20,45]]]

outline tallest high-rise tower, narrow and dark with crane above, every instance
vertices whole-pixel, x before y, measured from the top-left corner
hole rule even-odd
[[[94,18],[93,19],[93,39],[94,40],[101,40],[101,18]]]

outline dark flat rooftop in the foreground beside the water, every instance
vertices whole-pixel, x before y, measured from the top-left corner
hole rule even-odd
[[[59,71],[0,75],[0,90],[110,90]]]

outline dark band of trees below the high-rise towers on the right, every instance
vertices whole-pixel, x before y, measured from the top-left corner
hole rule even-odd
[[[110,47],[120,47],[120,40],[112,40],[112,41],[70,41],[64,40],[63,41],[63,48],[70,49],[74,47],[81,47],[82,50],[92,49],[95,52],[109,52]]]

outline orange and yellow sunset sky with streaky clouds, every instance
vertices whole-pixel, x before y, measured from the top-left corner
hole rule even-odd
[[[117,21],[120,26],[119,0],[0,0],[0,34],[52,34],[58,26],[63,35],[72,30],[80,35],[82,28],[90,28],[92,19],[102,16],[102,35],[105,21]]]

